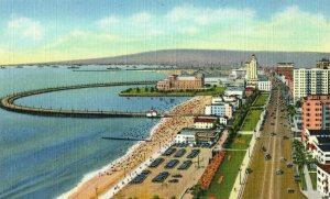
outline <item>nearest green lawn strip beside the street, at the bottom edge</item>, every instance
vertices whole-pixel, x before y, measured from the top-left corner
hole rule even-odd
[[[202,198],[208,199],[209,197],[217,198],[229,198],[230,191],[235,183],[239,175],[239,168],[244,158],[245,152],[227,152],[223,163],[217,170],[209,189],[206,190]],[[229,159],[230,156],[230,159]],[[242,170],[242,176],[244,170]],[[218,183],[220,176],[223,176],[221,184]]]

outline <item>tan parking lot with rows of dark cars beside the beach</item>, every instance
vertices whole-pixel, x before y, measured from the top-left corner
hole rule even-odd
[[[172,146],[138,175],[114,198],[180,197],[186,189],[197,184],[202,175],[211,148],[193,147],[185,144]]]

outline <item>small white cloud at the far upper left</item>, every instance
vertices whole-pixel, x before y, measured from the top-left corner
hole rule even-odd
[[[32,40],[41,40],[44,35],[44,27],[41,22],[30,18],[14,18],[8,22],[11,34],[22,35]]]

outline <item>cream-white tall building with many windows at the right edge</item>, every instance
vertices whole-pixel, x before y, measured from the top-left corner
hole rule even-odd
[[[330,69],[294,69],[294,101],[310,95],[330,93]]]

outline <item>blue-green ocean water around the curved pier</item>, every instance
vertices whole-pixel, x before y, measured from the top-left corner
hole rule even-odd
[[[88,66],[84,69],[105,69]],[[157,80],[147,71],[73,71],[58,68],[0,69],[0,95],[90,82]],[[166,111],[187,98],[121,98],[127,87],[77,89],[18,100],[34,107],[63,109]],[[82,177],[121,157],[135,142],[102,136],[146,137],[157,119],[77,119],[28,115],[0,109],[0,198],[55,198]]]

